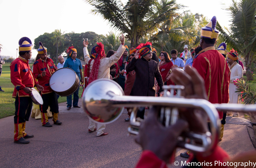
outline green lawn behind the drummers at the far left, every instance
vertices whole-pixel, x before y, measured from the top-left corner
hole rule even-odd
[[[32,63],[29,64],[32,67]],[[10,79],[10,63],[3,64],[2,74],[0,76],[0,86],[5,92],[0,92],[0,118],[8,117],[14,115],[15,113],[15,98],[12,98],[12,92],[14,90],[14,85]],[[83,89],[79,89],[79,97],[81,98]],[[66,97],[59,97],[58,102],[66,102]]]

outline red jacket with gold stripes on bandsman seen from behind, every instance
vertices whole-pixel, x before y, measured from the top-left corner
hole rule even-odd
[[[204,79],[207,100],[212,104],[228,103],[230,69],[222,54],[214,47],[207,47],[195,57],[192,67]],[[223,112],[219,112],[219,117],[223,118]]]

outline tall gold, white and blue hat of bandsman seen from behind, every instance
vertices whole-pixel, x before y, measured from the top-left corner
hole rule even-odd
[[[212,20],[203,28],[201,28],[201,37],[208,39],[217,39],[218,30],[215,28],[217,23],[216,17],[212,17]]]

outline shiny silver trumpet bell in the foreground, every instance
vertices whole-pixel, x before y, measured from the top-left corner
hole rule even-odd
[[[111,106],[113,95],[124,95],[119,84],[109,79],[97,79],[83,93],[83,108],[88,118],[95,123],[109,124],[122,115],[124,107]]]

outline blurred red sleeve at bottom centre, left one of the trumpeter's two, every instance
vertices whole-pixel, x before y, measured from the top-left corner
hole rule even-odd
[[[136,168],[167,168],[167,166],[152,151],[145,150],[142,152]]]

